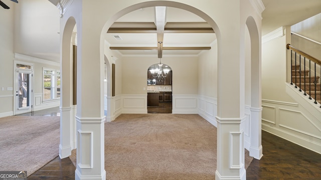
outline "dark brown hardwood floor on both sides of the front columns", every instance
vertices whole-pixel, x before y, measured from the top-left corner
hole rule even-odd
[[[55,110],[46,109],[34,112],[33,115],[50,115],[54,114],[53,111]],[[321,179],[321,154],[266,131],[262,131],[262,146],[263,157],[260,160],[253,159],[250,166],[246,169],[247,180]],[[69,158],[60,159],[58,156],[31,174],[28,180],[74,179],[75,169]]]

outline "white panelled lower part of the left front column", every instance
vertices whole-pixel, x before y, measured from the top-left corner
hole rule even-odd
[[[105,117],[76,116],[77,166],[75,179],[106,179],[104,169],[104,121]]]

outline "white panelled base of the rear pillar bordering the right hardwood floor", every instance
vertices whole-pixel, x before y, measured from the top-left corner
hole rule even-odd
[[[262,107],[255,108],[251,107],[251,145],[250,145],[250,156],[261,159],[262,153],[262,143],[261,143],[261,120],[262,120]]]

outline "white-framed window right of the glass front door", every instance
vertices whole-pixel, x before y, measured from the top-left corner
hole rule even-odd
[[[44,68],[43,100],[60,98],[60,71]]]

